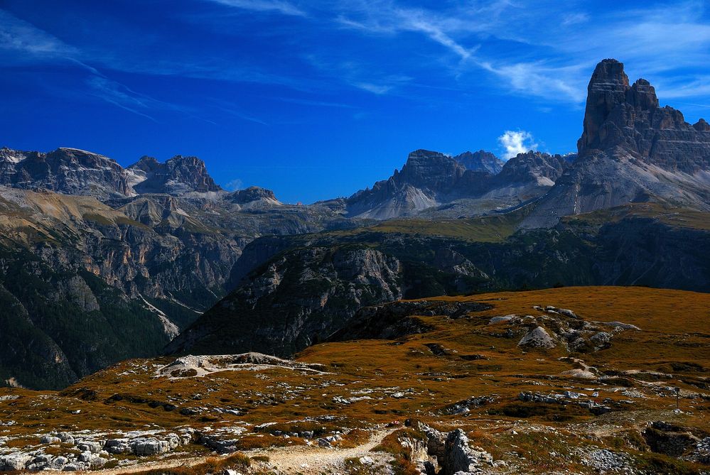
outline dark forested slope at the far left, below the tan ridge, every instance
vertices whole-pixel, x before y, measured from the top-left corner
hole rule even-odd
[[[154,355],[176,333],[96,275],[46,263],[5,239],[0,268],[0,384],[63,388],[115,361]]]

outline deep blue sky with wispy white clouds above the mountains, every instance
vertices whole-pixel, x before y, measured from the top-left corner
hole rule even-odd
[[[416,148],[566,153],[603,58],[710,115],[705,5],[0,0],[0,146],[198,155],[286,202],[350,195]]]

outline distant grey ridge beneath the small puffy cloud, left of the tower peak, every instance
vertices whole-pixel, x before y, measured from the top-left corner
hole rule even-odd
[[[417,150],[389,180],[348,198],[346,215],[390,219],[424,211],[470,215],[515,207],[543,195],[568,165],[562,155],[533,151],[504,163],[485,151],[450,157]]]

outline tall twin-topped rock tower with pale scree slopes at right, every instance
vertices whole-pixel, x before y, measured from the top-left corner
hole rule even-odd
[[[588,86],[579,158],[523,223],[630,202],[710,209],[710,131],[672,107],[659,107],[646,80],[629,85],[623,64],[603,60]]]

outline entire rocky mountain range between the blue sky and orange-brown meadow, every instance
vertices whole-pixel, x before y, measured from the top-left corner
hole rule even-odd
[[[615,60],[593,72],[575,154],[416,150],[387,180],[306,206],[222,190],[195,157],[124,168],[75,148],[2,148],[0,383],[61,387],[168,344],[290,354],[402,297],[710,290],[706,212],[710,126],[660,107]]]

